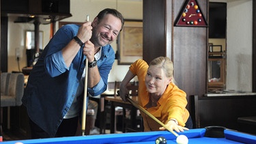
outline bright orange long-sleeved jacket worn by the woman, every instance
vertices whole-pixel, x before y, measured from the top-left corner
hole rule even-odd
[[[139,93],[138,99],[139,104],[147,109],[145,105],[150,100],[150,95],[147,92],[145,86],[145,75],[147,74],[147,68],[149,66],[145,61],[139,59],[132,63],[130,66],[130,71],[132,74],[137,75],[139,79]],[[152,115],[157,119],[162,121],[163,124],[167,124],[169,119],[177,119],[180,126],[185,126],[185,123],[189,117],[189,112],[186,109],[186,93],[179,89],[174,83],[170,83],[162,94],[161,98],[158,100],[157,106],[147,109]],[[144,131],[155,131],[159,130],[161,127],[154,119],[148,117],[143,112],[141,112],[144,123]]]

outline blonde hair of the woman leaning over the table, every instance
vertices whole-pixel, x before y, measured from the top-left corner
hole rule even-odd
[[[164,70],[167,78],[172,78],[171,83],[175,83],[173,78],[173,61],[169,57],[157,57],[150,62],[150,66],[159,66]]]

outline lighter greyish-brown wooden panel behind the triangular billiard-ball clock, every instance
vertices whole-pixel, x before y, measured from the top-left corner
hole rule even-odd
[[[207,2],[198,0],[201,11],[207,16]],[[174,18],[184,1],[175,1]],[[173,63],[175,80],[188,96],[206,93],[207,27],[173,27]]]

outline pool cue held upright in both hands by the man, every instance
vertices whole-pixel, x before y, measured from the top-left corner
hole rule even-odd
[[[89,16],[87,15],[87,22],[89,21]],[[83,119],[82,119],[82,136],[85,136],[85,124],[86,124],[86,111],[87,111],[87,83],[88,83],[88,59],[85,59],[85,90],[83,96]]]

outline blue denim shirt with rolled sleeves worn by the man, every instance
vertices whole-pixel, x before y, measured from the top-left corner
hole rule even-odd
[[[79,25],[65,25],[55,33],[33,66],[23,96],[30,119],[50,136],[55,136],[63,116],[70,109],[85,68],[83,48],[76,54],[70,67],[66,66],[61,53],[61,49],[78,30]],[[101,57],[97,61],[101,78],[95,87],[88,88],[91,96],[98,96],[106,90],[114,61],[115,52],[111,45],[102,46]]]

